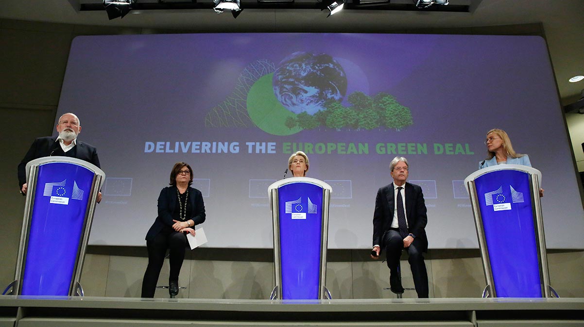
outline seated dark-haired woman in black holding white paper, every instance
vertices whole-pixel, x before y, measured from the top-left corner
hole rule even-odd
[[[172,167],[170,187],[158,196],[158,217],[146,234],[148,267],[142,280],[142,297],[154,297],[158,276],[169,249],[171,272],[168,291],[171,296],[179,293],[179,272],[185,259],[186,234],[194,235],[194,226],[205,221],[203,195],[190,187],[193,170],[189,164],[179,162]]]

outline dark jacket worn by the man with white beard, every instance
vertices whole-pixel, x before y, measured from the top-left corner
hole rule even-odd
[[[95,164],[95,166],[101,168],[99,166],[98,151],[95,147],[79,140],[75,142],[77,142],[77,145],[74,147],[76,152],[75,158],[85,160],[88,163]],[[21,189],[22,184],[26,183],[26,164],[29,163],[30,160],[50,156],[55,149],[62,153],[61,145],[57,142],[57,136],[47,136],[45,138],[34,140],[33,144],[30,146],[29,152],[26,153],[25,157],[18,165],[18,182]]]

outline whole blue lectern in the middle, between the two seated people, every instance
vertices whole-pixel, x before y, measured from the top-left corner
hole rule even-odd
[[[331,298],[325,287],[331,192],[330,185],[307,177],[287,178],[268,188],[276,275],[272,299]]]

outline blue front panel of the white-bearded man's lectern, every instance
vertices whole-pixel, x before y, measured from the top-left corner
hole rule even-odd
[[[39,166],[22,295],[69,295],[94,177],[74,163]]]

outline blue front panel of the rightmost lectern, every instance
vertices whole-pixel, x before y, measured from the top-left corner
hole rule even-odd
[[[497,297],[542,297],[530,175],[495,170],[475,179]]]

